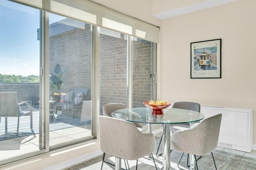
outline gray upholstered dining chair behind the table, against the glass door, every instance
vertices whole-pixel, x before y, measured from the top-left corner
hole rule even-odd
[[[119,110],[119,109],[126,109],[126,107],[124,106],[124,104],[122,103],[110,103],[110,104],[105,104],[102,106],[102,111],[103,111],[103,115],[104,116],[109,116],[109,117],[112,117],[111,116],[111,113],[113,111],[116,111],[116,110]],[[134,113],[135,115],[136,113]],[[137,114],[138,115],[138,114]],[[139,117],[140,115],[138,115]],[[137,122],[133,122],[136,127],[138,127],[138,129],[140,131],[143,131],[144,129],[142,129],[142,123],[137,123]]]

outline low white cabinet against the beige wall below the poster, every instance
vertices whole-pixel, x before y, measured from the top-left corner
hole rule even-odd
[[[252,109],[201,106],[200,112],[205,118],[222,113],[218,146],[252,151]]]

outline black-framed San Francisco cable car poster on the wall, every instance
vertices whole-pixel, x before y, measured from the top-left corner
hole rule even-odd
[[[190,78],[221,78],[221,39],[190,43]]]

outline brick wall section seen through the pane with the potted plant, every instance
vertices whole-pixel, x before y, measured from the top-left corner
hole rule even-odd
[[[70,88],[88,88],[87,99],[91,100],[92,32],[90,25],[50,37],[50,73],[56,64],[63,70],[63,85],[60,92]],[[53,90],[54,92],[54,90]]]

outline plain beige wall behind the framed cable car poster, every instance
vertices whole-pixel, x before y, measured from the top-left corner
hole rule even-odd
[[[158,98],[253,109],[256,144],[256,1],[239,0],[162,20]],[[222,39],[222,78],[190,79],[190,43]]]

